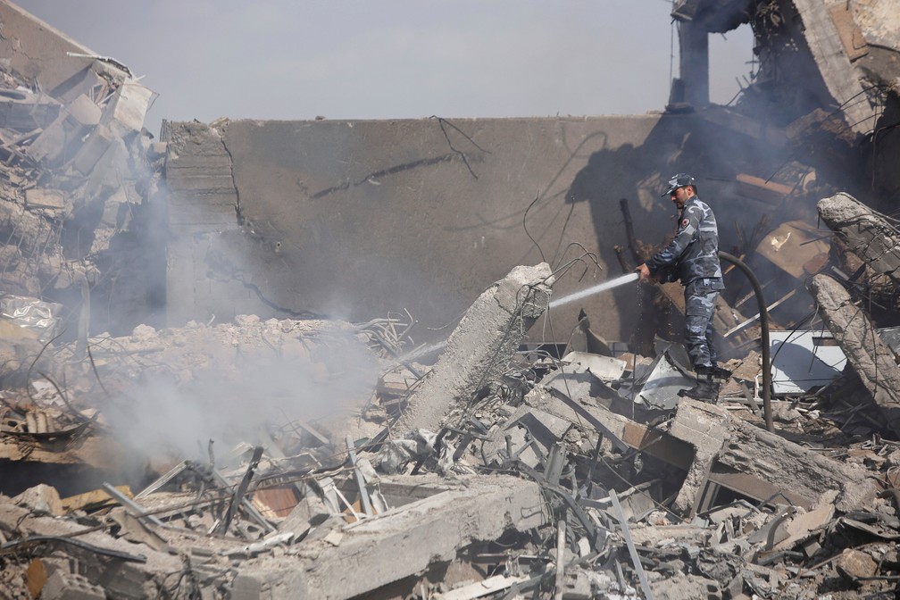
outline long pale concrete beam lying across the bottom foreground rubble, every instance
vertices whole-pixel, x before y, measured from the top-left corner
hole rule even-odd
[[[421,478],[419,478],[421,479]],[[446,482],[445,482],[446,483]],[[421,485],[421,481],[419,481]],[[232,600],[342,600],[453,560],[472,542],[545,525],[535,483],[498,475],[458,479],[434,496],[345,524],[325,540],[304,542],[303,558],[245,563]]]

